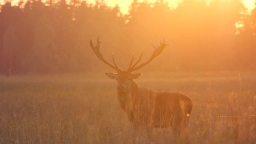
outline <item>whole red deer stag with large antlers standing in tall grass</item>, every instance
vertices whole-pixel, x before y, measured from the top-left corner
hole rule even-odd
[[[147,65],[158,56],[167,46],[165,40],[160,45],[152,45],[155,49],[152,56],[140,65],[138,63],[143,52],[141,52],[140,58],[132,65],[133,55],[129,68],[126,71],[121,70],[116,65],[113,55],[113,64],[103,57],[100,49],[100,37],[98,37],[97,45],[93,45],[91,39],[88,41],[96,56],[117,71],[117,73],[105,74],[110,79],[117,80],[119,104],[127,114],[134,128],[145,126],[152,130],[152,128],[166,128],[171,126],[174,134],[179,135],[180,129],[188,126],[193,105],[191,98],[179,93],[154,92],[147,88],[140,88],[134,80],[138,79],[141,74],[131,73]]]

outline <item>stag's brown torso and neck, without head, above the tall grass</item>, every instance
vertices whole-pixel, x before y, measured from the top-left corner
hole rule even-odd
[[[154,92],[132,80],[130,92],[118,92],[118,101],[135,127],[173,127],[179,133],[187,126],[192,100],[179,93]]]

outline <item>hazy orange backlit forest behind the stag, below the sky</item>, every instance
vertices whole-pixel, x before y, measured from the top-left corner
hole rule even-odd
[[[3,75],[83,73],[110,70],[89,47],[103,40],[106,59],[128,67],[144,48],[169,46],[141,71],[256,70],[256,10],[247,12],[239,0],[185,0],[176,9],[167,3],[132,3],[129,14],[101,1],[29,0],[0,9],[0,73]]]

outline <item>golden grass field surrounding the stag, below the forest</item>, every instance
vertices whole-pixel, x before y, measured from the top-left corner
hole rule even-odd
[[[147,73],[136,80],[193,100],[189,128],[176,143],[255,144],[256,74]],[[172,129],[155,129],[159,144]],[[133,129],[104,73],[0,77],[0,144],[129,144]],[[136,136],[147,142],[145,130]]]

